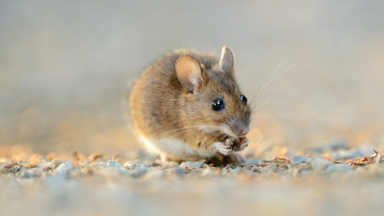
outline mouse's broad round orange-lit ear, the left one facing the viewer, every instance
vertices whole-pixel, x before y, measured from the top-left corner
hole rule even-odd
[[[181,85],[189,91],[196,91],[201,80],[199,62],[192,55],[182,55],[176,61],[175,70]]]

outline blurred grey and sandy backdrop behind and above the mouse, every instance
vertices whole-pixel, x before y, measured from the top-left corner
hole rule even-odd
[[[141,70],[175,48],[219,55],[223,45],[235,52],[248,98],[276,78],[261,94],[271,96],[253,121],[251,150],[330,140],[382,145],[383,8],[382,1],[1,1],[0,150],[136,152],[126,99]]]

